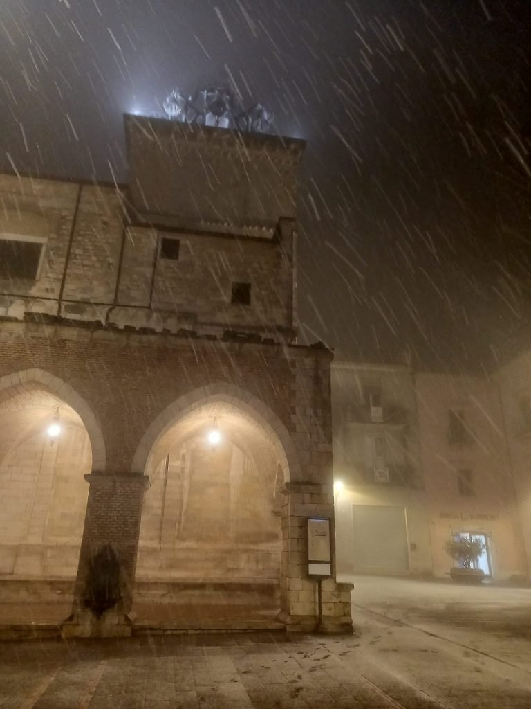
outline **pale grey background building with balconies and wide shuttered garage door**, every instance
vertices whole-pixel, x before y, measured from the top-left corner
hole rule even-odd
[[[335,362],[331,381],[338,569],[422,574],[431,557],[413,376]]]

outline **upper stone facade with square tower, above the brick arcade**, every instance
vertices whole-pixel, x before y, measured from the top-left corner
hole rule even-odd
[[[42,244],[38,277],[0,274],[0,316],[22,319],[33,312],[156,332],[219,335],[229,329],[295,337],[295,169],[303,143],[246,135],[249,150],[242,153],[232,134],[219,138],[219,130],[210,135],[171,123],[173,132],[165,135],[166,123],[126,121],[132,146],[127,185],[0,176],[0,233]],[[156,164],[144,156],[152,149],[148,127],[175,147]],[[180,163],[184,143],[195,159]],[[234,204],[241,201],[241,220],[224,213],[222,203],[210,212],[213,199],[228,200],[205,175],[210,150],[212,169],[216,160],[229,160],[225,191]],[[276,174],[271,182],[263,163]],[[251,166],[256,174],[249,186]],[[144,205],[139,194],[152,201]],[[248,303],[234,301],[234,284],[249,287]]]

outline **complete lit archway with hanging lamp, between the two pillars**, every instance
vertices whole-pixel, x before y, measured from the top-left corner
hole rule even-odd
[[[133,470],[142,465],[151,485],[142,507],[137,584],[199,584],[196,600],[205,592],[201,584],[221,584],[223,613],[234,603],[234,584],[244,595],[241,589],[252,587],[246,603],[251,596],[256,603],[257,588],[270,605],[278,603],[280,490],[298,467],[278,417],[235,386],[198,389],[149,427]]]

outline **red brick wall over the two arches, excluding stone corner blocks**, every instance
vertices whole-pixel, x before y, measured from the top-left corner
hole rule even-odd
[[[285,396],[290,366],[278,346],[3,323],[0,353],[0,376],[38,367],[89,403],[103,430],[111,472],[130,469],[142,435],[166,406],[215,381],[233,381],[292,428]]]

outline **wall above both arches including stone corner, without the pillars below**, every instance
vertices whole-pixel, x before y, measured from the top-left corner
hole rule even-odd
[[[305,481],[331,479],[329,361],[324,350],[110,330],[0,323],[0,376],[38,367],[89,403],[107,469],[130,469],[139,441],[179,396],[214,382],[256,396],[291,434]]]

